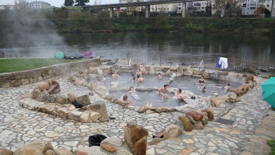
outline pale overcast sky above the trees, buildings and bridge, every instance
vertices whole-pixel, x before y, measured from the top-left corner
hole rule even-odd
[[[11,4],[13,5],[14,0],[0,0],[0,5],[5,5],[5,4]],[[28,0],[28,2],[30,2],[31,0]],[[32,0],[34,1],[34,0]],[[48,2],[50,3],[51,5],[53,6],[56,6],[56,7],[61,7],[61,4],[64,3],[64,0],[42,0],[44,2]],[[81,0],[80,0],[81,1]],[[90,5],[92,5],[94,3],[95,0],[90,0]],[[105,3],[118,3],[118,0],[102,0],[102,4],[105,4]]]

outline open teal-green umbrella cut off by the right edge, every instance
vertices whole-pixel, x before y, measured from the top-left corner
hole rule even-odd
[[[262,84],[262,98],[275,108],[275,77],[269,78]]]

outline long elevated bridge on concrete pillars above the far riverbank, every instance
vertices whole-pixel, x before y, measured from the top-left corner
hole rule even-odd
[[[113,18],[113,8],[126,8],[126,7],[138,7],[145,6],[145,17],[150,17],[150,5],[158,5],[158,4],[170,4],[170,3],[183,3],[183,18],[185,17],[185,9],[186,2],[196,2],[201,0],[156,0],[156,1],[146,1],[146,2],[133,2],[133,3],[115,3],[115,4],[102,4],[102,5],[92,5],[88,7],[83,7],[83,9],[110,9],[110,18]],[[112,11],[111,11],[112,10]],[[117,16],[119,17],[119,11],[117,12]]]

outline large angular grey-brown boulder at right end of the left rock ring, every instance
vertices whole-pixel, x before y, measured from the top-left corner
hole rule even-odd
[[[106,109],[105,102],[103,101],[96,101],[94,103],[91,103],[88,108],[91,111],[95,111],[101,114],[101,117],[99,118],[99,121],[108,121],[109,115]]]

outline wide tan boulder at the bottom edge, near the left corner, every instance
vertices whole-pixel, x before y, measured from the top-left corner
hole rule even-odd
[[[36,140],[17,147],[14,151],[14,155],[44,155],[47,150],[53,150],[51,142]]]

